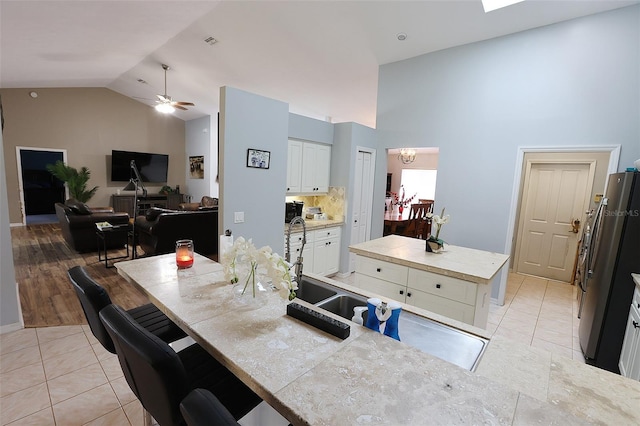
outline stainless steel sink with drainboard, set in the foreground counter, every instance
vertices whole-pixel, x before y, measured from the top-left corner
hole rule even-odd
[[[298,287],[302,290],[296,292],[300,299],[348,320],[353,317],[354,307],[367,306],[366,297],[309,277],[304,277]],[[366,324],[367,311],[362,319]],[[406,311],[400,314],[398,331],[400,340],[407,345],[470,371],[475,370],[488,343],[481,337]]]

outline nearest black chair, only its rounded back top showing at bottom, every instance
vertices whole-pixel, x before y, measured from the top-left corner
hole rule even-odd
[[[180,403],[187,426],[238,426],[227,407],[206,389],[194,389]]]

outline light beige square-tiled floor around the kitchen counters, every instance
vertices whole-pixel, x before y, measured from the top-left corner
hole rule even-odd
[[[509,274],[505,305],[491,306],[487,329],[584,362],[576,309],[574,286]],[[64,326],[0,335],[0,424],[138,426],[143,420],[117,357],[88,326]]]

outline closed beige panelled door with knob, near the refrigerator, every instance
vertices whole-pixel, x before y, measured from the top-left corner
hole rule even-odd
[[[539,161],[527,161],[525,166],[517,272],[569,282],[589,208],[595,162]],[[573,226],[576,220],[578,227]]]

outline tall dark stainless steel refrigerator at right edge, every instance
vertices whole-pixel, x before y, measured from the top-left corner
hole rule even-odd
[[[580,347],[588,364],[619,373],[625,326],[640,272],[640,172],[609,176],[580,315]]]

